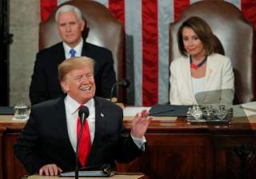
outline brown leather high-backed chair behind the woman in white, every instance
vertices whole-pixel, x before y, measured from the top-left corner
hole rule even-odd
[[[234,103],[255,101],[256,75],[254,62],[254,30],[246,22],[242,12],[233,4],[224,1],[196,2],[183,11],[177,22],[170,24],[170,62],[178,58],[178,27],[187,18],[203,18],[213,30],[218,42],[216,51],[223,51],[231,59],[234,68]],[[223,54],[220,52],[219,54]]]

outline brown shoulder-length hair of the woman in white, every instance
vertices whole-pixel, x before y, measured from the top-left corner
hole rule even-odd
[[[187,56],[182,38],[182,30],[184,27],[190,27],[194,30],[194,33],[197,34],[198,38],[201,40],[206,54],[212,54],[214,52],[214,34],[210,26],[202,18],[194,16],[186,19],[186,21],[182,23],[182,26],[178,28],[178,50],[183,56]]]

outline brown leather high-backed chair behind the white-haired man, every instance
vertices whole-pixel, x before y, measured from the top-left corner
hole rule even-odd
[[[82,17],[86,20],[87,29],[84,32],[86,42],[105,47],[112,52],[114,58],[114,70],[117,80],[125,78],[124,62],[124,32],[122,24],[110,14],[110,11],[99,2],[90,0],[74,0],[63,3],[77,6],[82,11]],[[56,10],[55,10],[56,11]],[[41,22],[39,27],[39,50],[61,42],[58,35],[57,24],[54,19],[55,11],[46,22]],[[119,90],[118,97],[124,101],[124,91]]]

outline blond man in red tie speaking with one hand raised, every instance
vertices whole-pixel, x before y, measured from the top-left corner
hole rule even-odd
[[[92,59],[67,59],[59,66],[59,78],[66,97],[32,106],[30,119],[14,145],[15,155],[29,173],[57,175],[75,169],[81,105],[86,105],[90,111],[86,121],[91,149],[84,151],[90,150],[84,161],[80,161],[80,167],[84,162],[88,167],[106,163],[114,166],[115,160],[129,162],[145,150],[144,133],[151,121],[148,111],[143,110],[134,117],[130,135],[125,135],[122,109],[111,101],[95,97],[93,74]],[[88,129],[83,133],[85,131]]]

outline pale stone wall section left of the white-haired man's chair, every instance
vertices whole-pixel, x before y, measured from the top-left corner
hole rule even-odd
[[[10,0],[10,105],[30,105],[29,88],[38,52],[39,0]]]

